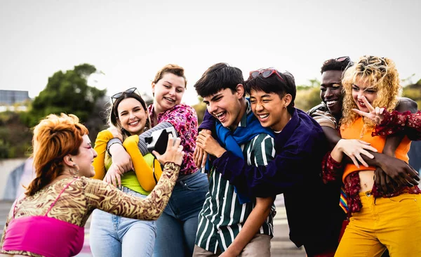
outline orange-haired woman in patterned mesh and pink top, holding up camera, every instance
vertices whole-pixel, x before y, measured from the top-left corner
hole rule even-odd
[[[36,177],[13,204],[1,238],[1,253],[21,256],[74,256],[81,251],[83,226],[94,209],[118,216],[156,220],[165,208],[182,163],[180,139],[154,153],[163,173],[154,190],[133,197],[94,175],[97,156],[88,129],[72,115],[50,114],[34,128]]]

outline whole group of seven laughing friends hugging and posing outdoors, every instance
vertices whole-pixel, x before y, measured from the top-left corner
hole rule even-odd
[[[72,114],[34,128],[36,178],[16,199],[5,256],[74,256],[92,214],[93,256],[270,256],[274,199],[307,256],[421,256],[421,191],[408,165],[421,112],[401,98],[395,64],[364,55],[326,60],[322,103],[295,108],[295,79],[275,68],[217,63],[194,88],[198,126],[182,104],[187,79],[166,65],[152,105],[137,88],[111,97],[109,129],[92,147]],[[246,97],[247,96],[247,97]],[[175,129],[166,152],[145,138]]]

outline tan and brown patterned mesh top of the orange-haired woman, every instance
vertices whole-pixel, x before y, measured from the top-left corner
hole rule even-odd
[[[20,197],[13,206],[4,227],[1,238],[1,253],[41,256],[32,251],[14,251],[3,249],[8,237],[8,225],[11,220],[32,216],[46,216],[66,223],[83,227],[94,209],[100,209],[117,216],[156,220],[171,197],[171,192],[178,178],[180,166],[173,163],[164,165],[159,183],[145,198],[133,197],[117,190],[102,180],[81,177],[67,177],[44,187],[30,197]],[[72,180],[74,180],[73,183]],[[63,188],[66,190],[63,190]],[[60,195],[60,192],[62,194]],[[59,197],[60,195],[60,197]],[[51,209],[50,207],[53,206]],[[50,209],[50,210],[49,210]],[[40,237],[40,239],[43,239]]]

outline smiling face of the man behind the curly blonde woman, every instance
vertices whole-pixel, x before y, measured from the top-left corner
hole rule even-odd
[[[342,115],[342,71],[327,70],[321,74],[320,98],[328,106],[329,112],[335,116]]]

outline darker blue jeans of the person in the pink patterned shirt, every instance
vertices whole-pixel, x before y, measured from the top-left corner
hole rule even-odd
[[[199,171],[178,179],[166,209],[156,220],[154,257],[192,256],[199,212],[208,190],[208,177]]]

